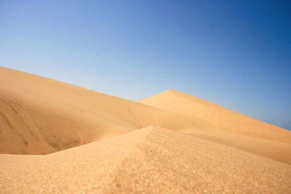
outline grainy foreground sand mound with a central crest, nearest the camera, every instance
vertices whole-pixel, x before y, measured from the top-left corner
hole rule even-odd
[[[3,194],[290,194],[291,165],[149,126],[4,163],[0,183]]]

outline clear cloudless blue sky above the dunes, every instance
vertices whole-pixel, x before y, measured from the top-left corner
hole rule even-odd
[[[175,89],[291,129],[291,1],[0,0],[0,66],[132,100]]]

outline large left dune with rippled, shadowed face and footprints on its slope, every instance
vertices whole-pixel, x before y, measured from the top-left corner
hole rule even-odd
[[[49,154],[149,125],[194,127],[180,113],[0,67],[0,153]]]

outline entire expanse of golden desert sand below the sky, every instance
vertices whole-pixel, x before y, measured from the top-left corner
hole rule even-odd
[[[131,101],[0,67],[0,194],[291,194],[291,131],[167,90]]]

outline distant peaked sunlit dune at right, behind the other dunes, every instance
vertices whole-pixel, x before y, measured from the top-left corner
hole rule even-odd
[[[200,118],[211,129],[291,144],[291,131],[237,113],[207,100],[175,90],[138,100],[144,104]]]

